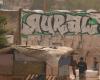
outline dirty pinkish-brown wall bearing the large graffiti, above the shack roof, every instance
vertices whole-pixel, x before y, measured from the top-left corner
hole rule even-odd
[[[22,44],[99,48],[100,13],[86,11],[39,13],[22,11]],[[34,36],[33,36],[34,35]],[[95,52],[95,50],[94,50]]]

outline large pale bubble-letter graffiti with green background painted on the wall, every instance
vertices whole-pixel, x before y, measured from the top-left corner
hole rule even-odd
[[[22,33],[55,35],[99,34],[100,13],[22,12]]]

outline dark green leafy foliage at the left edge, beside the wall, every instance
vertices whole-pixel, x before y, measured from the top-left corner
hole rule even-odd
[[[6,18],[0,16],[0,48],[7,46],[5,25],[7,24]]]

